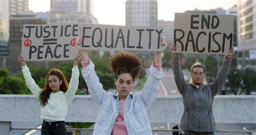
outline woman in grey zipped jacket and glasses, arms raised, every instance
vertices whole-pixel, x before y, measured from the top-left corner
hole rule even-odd
[[[171,45],[171,50],[176,50],[176,45]],[[210,84],[205,81],[206,71],[204,65],[197,62],[191,66],[190,83],[184,80],[181,71],[180,55],[173,53],[172,65],[174,79],[177,88],[183,97],[184,113],[181,118],[180,128],[184,134],[214,134],[215,120],[212,112],[213,98],[226,82],[230,70],[231,58],[234,48],[230,49],[230,55],[225,55],[221,69]]]

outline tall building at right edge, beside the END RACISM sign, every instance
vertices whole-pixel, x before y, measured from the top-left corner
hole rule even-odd
[[[238,1],[238,68],[256,69],[256,1]]]

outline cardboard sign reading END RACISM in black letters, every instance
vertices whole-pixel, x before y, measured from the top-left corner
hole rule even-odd
[[[232,15],[176,13],[175,52],[228,54],[233,41],[233,23]]]

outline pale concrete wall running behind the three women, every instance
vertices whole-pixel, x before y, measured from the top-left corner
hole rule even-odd
[[[180,123],[181,96],[159,96],[147,111],[150,122]],[[99,105],[91,96],[75,96],[66,122],[95,122]],[[256,123],[256,96],[216,96],[216,123]],[[39,102],[33,95],[0,95],[0,122],[41,122]]]

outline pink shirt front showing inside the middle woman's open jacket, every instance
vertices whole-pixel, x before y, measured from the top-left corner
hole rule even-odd
[[[126,131],[126,127],[124,124],[124,102],[125,99],[119,99],[120,106],[119,106],[119,114],[117,116],[116,122],[114,122],[114,127],[112,130],[111,135],[126,135],[128,134]]]

